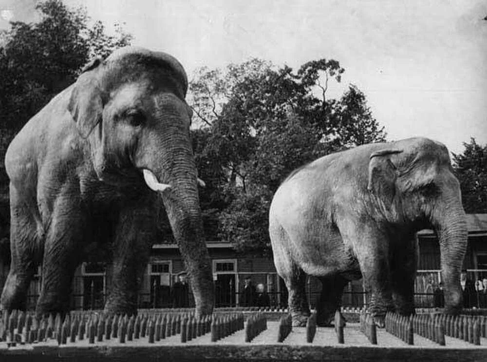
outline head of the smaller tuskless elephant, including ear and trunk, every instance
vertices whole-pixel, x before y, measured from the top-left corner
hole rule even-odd
[[[368,175],[368,190],[389,221],[409,222],[416,231],[432,228],[437,233],[446,312],[458,313],[467,222],[447,148],[425,138],[389,144],[370,155]]]

